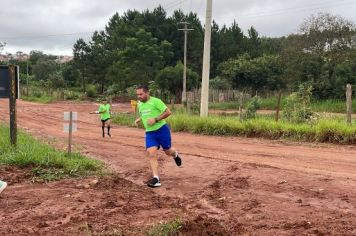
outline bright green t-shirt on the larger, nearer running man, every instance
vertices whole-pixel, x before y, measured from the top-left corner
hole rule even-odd
[[[159,117],[166,109],[166,104],[164,104],[161,99],[155,97],[150,97],[146,102],[138,103],[140,118],[147,132],[158,130],[166,124],[164,120],[160,120],[151,126],[147,124],[148,119]]]

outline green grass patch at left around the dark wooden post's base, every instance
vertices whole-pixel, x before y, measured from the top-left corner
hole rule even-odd
[[[101,162],[78,153],[70,157],[31,136],[20,132],[17,146],[9,141],[9,129],[0,124],[0,165],[31,168],[34,179],[52,181],[69,177],[100,175],[104,173]]]

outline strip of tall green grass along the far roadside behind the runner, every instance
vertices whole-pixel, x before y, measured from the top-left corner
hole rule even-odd
[[[118,114],[114,122],[134,126],[134,115]],[[316,124],[295,124],[274,121],[273,116],[257,116],[256,119],[239,121],[238,116],[211,116],[174,114],[167,122],[175,132],[189,132],[217,136],[261,137],[294,141],[356,144],[356,125],[347,125],[344,118],[320,118]]]

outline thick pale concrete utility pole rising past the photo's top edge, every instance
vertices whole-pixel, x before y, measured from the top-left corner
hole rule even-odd
[[[203,74],[202,74],[202,83],[201,83],[202,87],[201,87],[200,117],[208,116],[211,18],[212,18],[212,0],[207,0],[205,34],[204,34]]]

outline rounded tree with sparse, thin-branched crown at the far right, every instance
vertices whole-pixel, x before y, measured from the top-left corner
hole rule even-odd
[[[312,15],[300,26],[300,34],[290,35],[285,41],[284,77],[293,78],[290,84],[294,87],[311,82],[317,98],[342,98],[344,81],[352,81],[355,75],[349,74],[351,68],[346,69],[347,62],[354,60],[355,33],[355,25],[341,17],[329,13]]]

